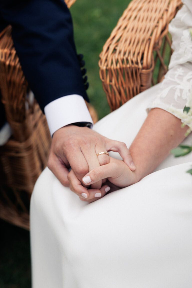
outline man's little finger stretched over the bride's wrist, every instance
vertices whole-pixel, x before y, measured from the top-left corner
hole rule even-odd
[[[107,151],[118,152],[130,170],[134,171],[136,169],[130,151],[124,142],[109,140],[107,142]]]

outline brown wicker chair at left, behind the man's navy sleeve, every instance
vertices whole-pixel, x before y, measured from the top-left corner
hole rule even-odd
[[[70,7],[75,0],[66,0]],[[29,202],[45,168],[51,137],[45,115],[33,101],[13,46],[11,26],[0,34],[0,88],[13,135],[0,147],[0,218],[29,229]],[[88,109],[97,121],[89,104]]]

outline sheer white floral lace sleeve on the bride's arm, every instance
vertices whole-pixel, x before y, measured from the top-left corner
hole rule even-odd
[[[192,130],[192,1],[183,0],[183,4],[169,25],[174,50],[169,70],[147,111],[164,109]],[[187,114],[183,112],[185,106],[191,107]]]

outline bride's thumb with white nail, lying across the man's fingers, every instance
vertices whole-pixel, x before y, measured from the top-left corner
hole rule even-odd
[[[111,162],[109,164],[94,168],[89,173],[87,173],[87,175],[85,175],[82,180],[83,183],[91,185],[108,177],[117,177],[117,173],[118,165],[116,162]]]

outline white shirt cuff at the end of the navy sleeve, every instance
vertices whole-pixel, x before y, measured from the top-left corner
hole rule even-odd
[[[44,108],[51,136],[63,126],[93,120],[82,96],[73,94],[58,98]]]

